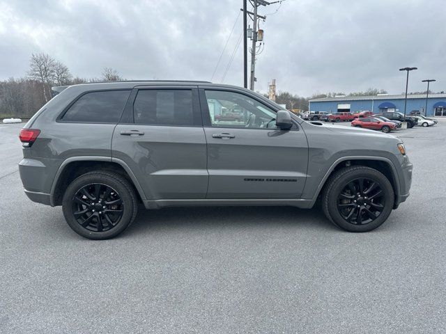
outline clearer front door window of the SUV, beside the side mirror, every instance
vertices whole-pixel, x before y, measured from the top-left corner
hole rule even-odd
[[[213,127],[275,128],[276,113],[246,95],[206,90],[210,123]],[[311,113],[310,115],[314,115]]]

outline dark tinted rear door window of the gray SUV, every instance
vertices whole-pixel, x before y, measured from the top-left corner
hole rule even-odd
[[[133,104],[134,122],[147,125],[197,125],[192,90],[139,90]]]

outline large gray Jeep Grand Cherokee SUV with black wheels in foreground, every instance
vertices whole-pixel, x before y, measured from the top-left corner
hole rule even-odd
[[[59,91],[20,132],[34,202],[62,205],[83,237],[107,239],[146,209],[316,202],[339,228],[381,225],[409,195],[402,141],[305,122],[262,95],[204,81],[125,81]],[[238,119],[221,116],[237,110]]]

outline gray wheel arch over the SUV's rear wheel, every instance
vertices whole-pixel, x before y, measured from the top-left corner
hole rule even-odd
[[[80,175],[92,170],[107,170],[125,177],[136,189],[139,200],[146,200],[144,191],[132,170],[121,159],[111,157],[71,157],[64,160],[56,172],[51,186],[50,204],[62,204],[63,193],[68,185]]]

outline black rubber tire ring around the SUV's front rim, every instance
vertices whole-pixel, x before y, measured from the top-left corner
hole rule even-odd
[[[348,182],[351,182],[359,177],[367,177],[375,182],[378,182],[381,186],[381,189],[385,193],[385,208],[383,212],[380,213],[378,218],[376,218],[371,223],[367,223],[364,225],[355,225],[352,223],[348,223],[344,218],[342,218],[341,214],[339,214],[337,209],[337,197],[339,192],[344,189]],[[362,169],[362,170],[354,170],[352,173],[348,173],[343,175],[335,182],[328,194],[328,212],[332,217],[334,223],[338,225],[340,228],[344,230],[348,230],[350,232],[368,232],[378,228],[382,225],[392,212],[394,205],[394,191],[392,188],[392,184],[390,184],[387,177],[385,177],[382,173],[377,170],[373,170],[371,168]]]

